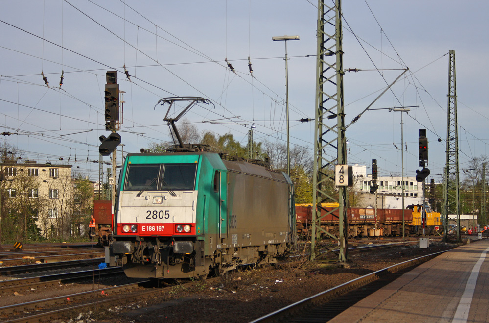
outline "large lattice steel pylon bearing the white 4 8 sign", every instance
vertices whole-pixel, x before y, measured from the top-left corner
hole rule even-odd
[[[347,187],[338,187],[338,198],[326,191],[327,183],[334,183],[335,164],[347,164],[345,113],[343,98],[343,50],[341,26],[341,0],[333,6],[318,1],[317,30],[317,70],[316,70],[316,113],[313,206],[311,227],[311,260],[315,258],[316,238],[321,233],[338,240],[339,260],[346,261],[347,241]],[[329,155],[328,155],[329,154]],[[331,156],[336,155],[336,156]],[[337,202],[338,208],[326,211],[324,202]],[[323,214],[321,214],[323,210]],[[338,237],[321,228],[321,219],[338,210]],[[334,215],[333,215],[334,216]],[[316,237],[317,235],[317,237]]]

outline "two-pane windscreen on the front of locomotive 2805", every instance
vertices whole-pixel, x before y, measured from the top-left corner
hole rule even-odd
[[[125,191],[184,191],[195,189],[197,164],[129,165]]]

